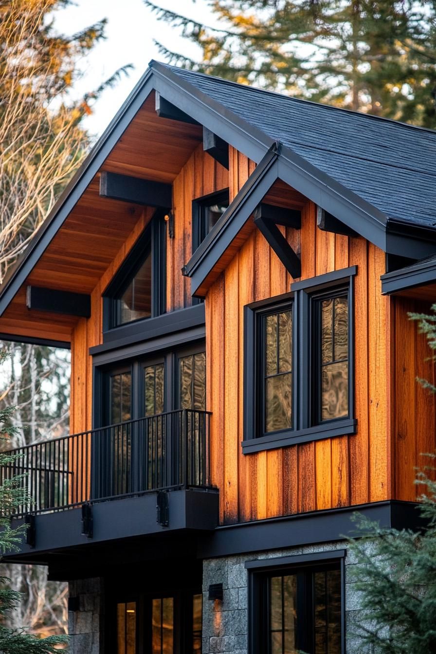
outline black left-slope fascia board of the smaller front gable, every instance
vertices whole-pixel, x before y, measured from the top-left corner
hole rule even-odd
[[[273,186],[277,179],[277,158],[275,143],[182,269],[183,274],[192,279],[193,293]]]

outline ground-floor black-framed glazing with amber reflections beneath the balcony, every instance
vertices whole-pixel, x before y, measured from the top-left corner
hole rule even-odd
[[[201,654],[203,595],[177,591],[116,604],[116,654]]]

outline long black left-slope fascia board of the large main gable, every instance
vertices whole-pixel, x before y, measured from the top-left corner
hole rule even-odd
[[[152,92],[152,77],[152,70],[144,73],[137,86],[129,94],[107,129],[103,132],[99,141],[93,146],[90,154],[88,154],[88,157],[82,163],[73,179],[71,179],[65,190],[61,193],[61,196],[59,196],[52,211],[50,211],[47,218],[41,224],[41,227],[25,249],[22,257],[10,269],[9,274],[3,281],[3,289],[1,290],[0,316],[30,274],[39,257],[52,241],[64,220],[86,190],[88,184],[90,184],[93,177],[97,174],[102,163],[109,156],[110,151],[114,148],[124,130],[131,120],[133,120],[139,109],[141,109],[148,95]]]

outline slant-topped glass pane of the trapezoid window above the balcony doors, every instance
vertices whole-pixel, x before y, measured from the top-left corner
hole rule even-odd
[[[152,315],[152,254],[150,249],[135,277],[119,298],[120,324]]]

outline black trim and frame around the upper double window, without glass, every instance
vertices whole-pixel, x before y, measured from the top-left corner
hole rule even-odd
[[[350,266],[325,275],[317,275],[291,284],[291,292],[267,300],[253,302],[244,307],[244,454],[260,452],[298,443],[309,443],[323,438],[334,438],[355,434],[357,421],[354,419],[354,276],[358,267]],[[313,376],[307,371],[314,370],[314,347],[312,342],[312,300],[316,300],[326,290],[348,288],[348,417],[314,424],[312,415]],[[292,415],[293,428],[273,432],[267,436],[257,436],[258,430],[258,379],[256,370],[256,314],[267,307],[280,306],[293,302],[292,315]],[[303,365],[303,362],[306,362]]]

